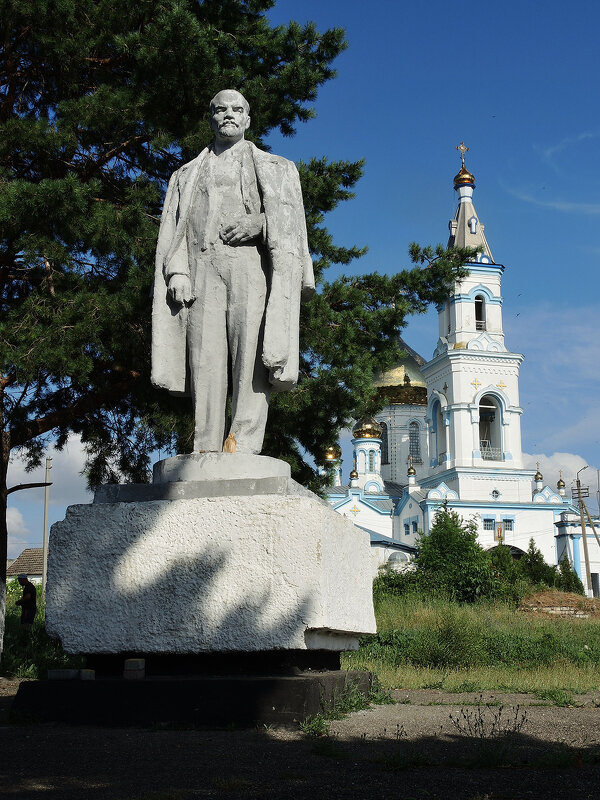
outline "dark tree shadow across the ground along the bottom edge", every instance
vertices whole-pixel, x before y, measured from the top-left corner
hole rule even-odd
[[[587,800],[597,745],[519,734],[500,750],[470,737],[310,740],[269,730],[0,729],[0,796],[12,800],[331,797]]]

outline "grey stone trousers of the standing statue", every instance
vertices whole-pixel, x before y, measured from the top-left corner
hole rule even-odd
[[[269,373],[262,363],[267,281],[254,245],[222,243],[194,256],[194,294],[187,346],[195,413],[194,451],[218,451],[231,425],[236,450],[260,453],[269,408]]]

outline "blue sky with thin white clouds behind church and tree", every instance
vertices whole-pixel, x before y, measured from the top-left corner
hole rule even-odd
[[[269,142],[296,161],[365,159],[356,198],[326,222],[338,244],[369,247],[346,271],[393,273],[411,241],[447,241],[464,141],[475,206],[506,266],[506,344],[525,354],[523,450],[548,482],[560,466],[567,486],[584,464],[600,467],[600,5],[279,0],[270,18],[346,30],[316,118]],[[404,333],[425,358],[435,317]],[[57,456],[51,521],[88,500],[81,466],[76,441]],[[11,472],[18,483],[20,466]],[[582,477],[593,495],[595,471]],[[15,555],[41,542],[43,492],[10,499]]]

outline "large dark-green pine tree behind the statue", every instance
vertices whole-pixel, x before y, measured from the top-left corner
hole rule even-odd
[[[333,77],[344,33],[273,28],[271,0],[0,0],[0,582],[11,452],[40,463],[49,437],[81,435],[88,479],[146,480],[156,447],[191,447],[188,404],[149,381],[150,295],[166,181],[210,140],[224,88],[251,105],[265,146],[292,135]],[[324,143],[328,146],[328,143]],[[407,314],[441,301],[466,252],[415,247],[393,277],[324,271],[364,252],[334,245],[324,214],[361,163],[298,165],[319,281],[303,309],[298,389],[272,404],[265,452],[316,476],[350,418],[374,410],[371,377],[399,355]],[[2,596],[4,592],[2,591]]]

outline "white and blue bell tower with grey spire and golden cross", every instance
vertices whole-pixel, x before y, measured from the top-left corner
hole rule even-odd
[[[461,168],[454,178],[458,208],[450,220],[448,246],[472,247],[451,297],[438,307],[439,338],[422,374],[427,382],[430,476],[448,470],[447,482],[464,471],[503,472],[522,467],[519,367],[523,356],[504,344],[501,281],[484,225],[473,205],[475,178],[465,166],[468,147],[457,147]],[[449,484],[450,485],[450,484]],[[457,487],[458,488],[458,487]]]

